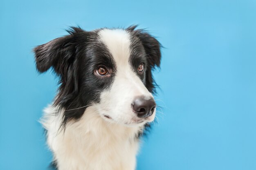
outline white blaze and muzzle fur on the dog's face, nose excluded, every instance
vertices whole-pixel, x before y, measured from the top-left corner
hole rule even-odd
[[[101,94],[101,103],[97,105],[99,112],[101,115],[110,116],[110,121],[136,124],[140,118],[132,110],[133,100],[138,96],[153,96],[130,66],[130,35],[122,29],[103,29],[99,35],[112,54],[117,69],[110,90]],[[155,113],[146,121],[153,121],[154,117]]]

